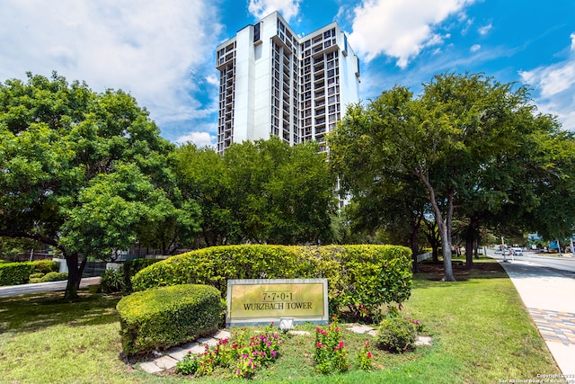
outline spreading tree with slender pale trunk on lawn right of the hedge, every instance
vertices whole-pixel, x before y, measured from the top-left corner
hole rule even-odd
[[[525,87],[513,90],[512,84],[476,74],[440,75],[424,84],[420,97],[395,86],[366,108],[351,106],[329,144],[332,164],[353,195],[398,174],[425,187],[441,238],[444,279],[454,281],[455,210],[478,191],[493,204],[504,204],[501,189],[492,188],[498,178],[513,174],[498,168],[542,126],[558,129],[552,117],[535,114]],[[550,174],[541,167],[537,172]]]

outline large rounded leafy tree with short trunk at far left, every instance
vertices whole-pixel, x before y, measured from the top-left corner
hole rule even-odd
[[[0,85],[0,236],[61,252],[65,297],[74,298],[89,257],[111,257],[150,228],[193,224],[166,166],[172,151],[129,94],[96,94],[56,73],[8,80]]]

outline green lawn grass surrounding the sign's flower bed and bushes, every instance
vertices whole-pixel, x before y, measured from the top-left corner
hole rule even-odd
[[[314,326],[285,339],[282,357],[252,382],[492,383],[560,373],[517,291],[498,263],[482,259],[471,272],[456,267],[456,282],[437,281],[432,264],[413,280],[403,314],[422,320],[431,347],[391,354],[372,348],[377,370],[314,372]],[[0,299],[0,377],[8,383],[182,383],[176,375],[149,375],[120,358],[119,298],[83,290],[76,302],[61,293]],[[349,362],[368,335],[343,331]],[[221,382],[223,376],[195,382]],[[230,382],[244,382],[234,380]]]

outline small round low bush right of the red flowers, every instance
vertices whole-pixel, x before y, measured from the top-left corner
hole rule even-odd
[[[387,317],[377,329],[377,346],[393,353],[403,353],[415,347],[417,330],[411,319]]]

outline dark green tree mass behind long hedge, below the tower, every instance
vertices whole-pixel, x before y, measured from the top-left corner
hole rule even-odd
[[[332,241],[334,179],[316,144],[283,140],[236,143],[223,156],[178,147],[180,189],[201,207],[205,245]]]

